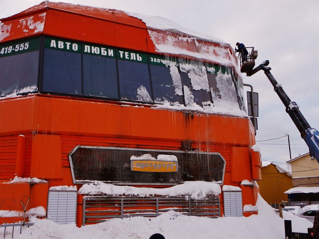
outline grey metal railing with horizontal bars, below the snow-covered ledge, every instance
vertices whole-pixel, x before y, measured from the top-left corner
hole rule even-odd
[[[156,217],[169,210],[192,216],[220,217],[220,200],[213,196],[203,200],[186,200],[185,197],[86,197],[83,200],[82,224],[110,218]]]

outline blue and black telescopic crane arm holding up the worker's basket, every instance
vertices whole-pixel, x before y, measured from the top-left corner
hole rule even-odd
[[[293,120],[293,123],[298,128],[301,138],[306,142],[307,146],[309,147],[309,154],[311,157],[315,157],[317,162],[319,163],[319,132],[315,128],[311,128],[308,124],[305,117],[299,110],[299,106],[296,102],[290,100],[287,96],[284,89],[281,87],[280,84],[276,81],[276,79],[270,73],[271,68],[267,67],[269,61],[264,61],[262,64],[257,66],[255,69],[252,69],[249,72],[246,72],[247,76],[252,76],[259,70],[263,70],[269,81],[274,87],[274,91],[277,93],[279,98],[281,99],[282,103],[286,107],[286,112],[289,114],[290,118]]]

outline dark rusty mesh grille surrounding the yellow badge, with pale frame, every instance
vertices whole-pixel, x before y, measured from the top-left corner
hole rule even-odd
[[[138,172],[130,170],[130,157],[151,154],[175,155],[177,172]],[[70,155],[75,181],[97,180],[121,183],[169,183],[223,180],[225,159],[219,153],[166,151],[113,147],[78,146]]]

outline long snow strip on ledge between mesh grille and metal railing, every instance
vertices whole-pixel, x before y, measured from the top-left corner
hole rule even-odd
[[[90,183],[85,184],[79,189],[80,194],[86,195],[107,195],[111,197],[118,196],[138,196],[150,197],[159,196],[189,196],[192,199],[202,199],[208,195],[219,195],[221,193],[220,186],[214,182],[204,181],[188,181],[181,185],[175,185],[169,188],[149,188],[149,187],[133,187],[118,186],[106,183]]]

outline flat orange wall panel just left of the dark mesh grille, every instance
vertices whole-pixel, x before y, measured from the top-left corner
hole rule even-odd
[[[34,134],[32,141],[30,177],[62,179],[60,135]]]

